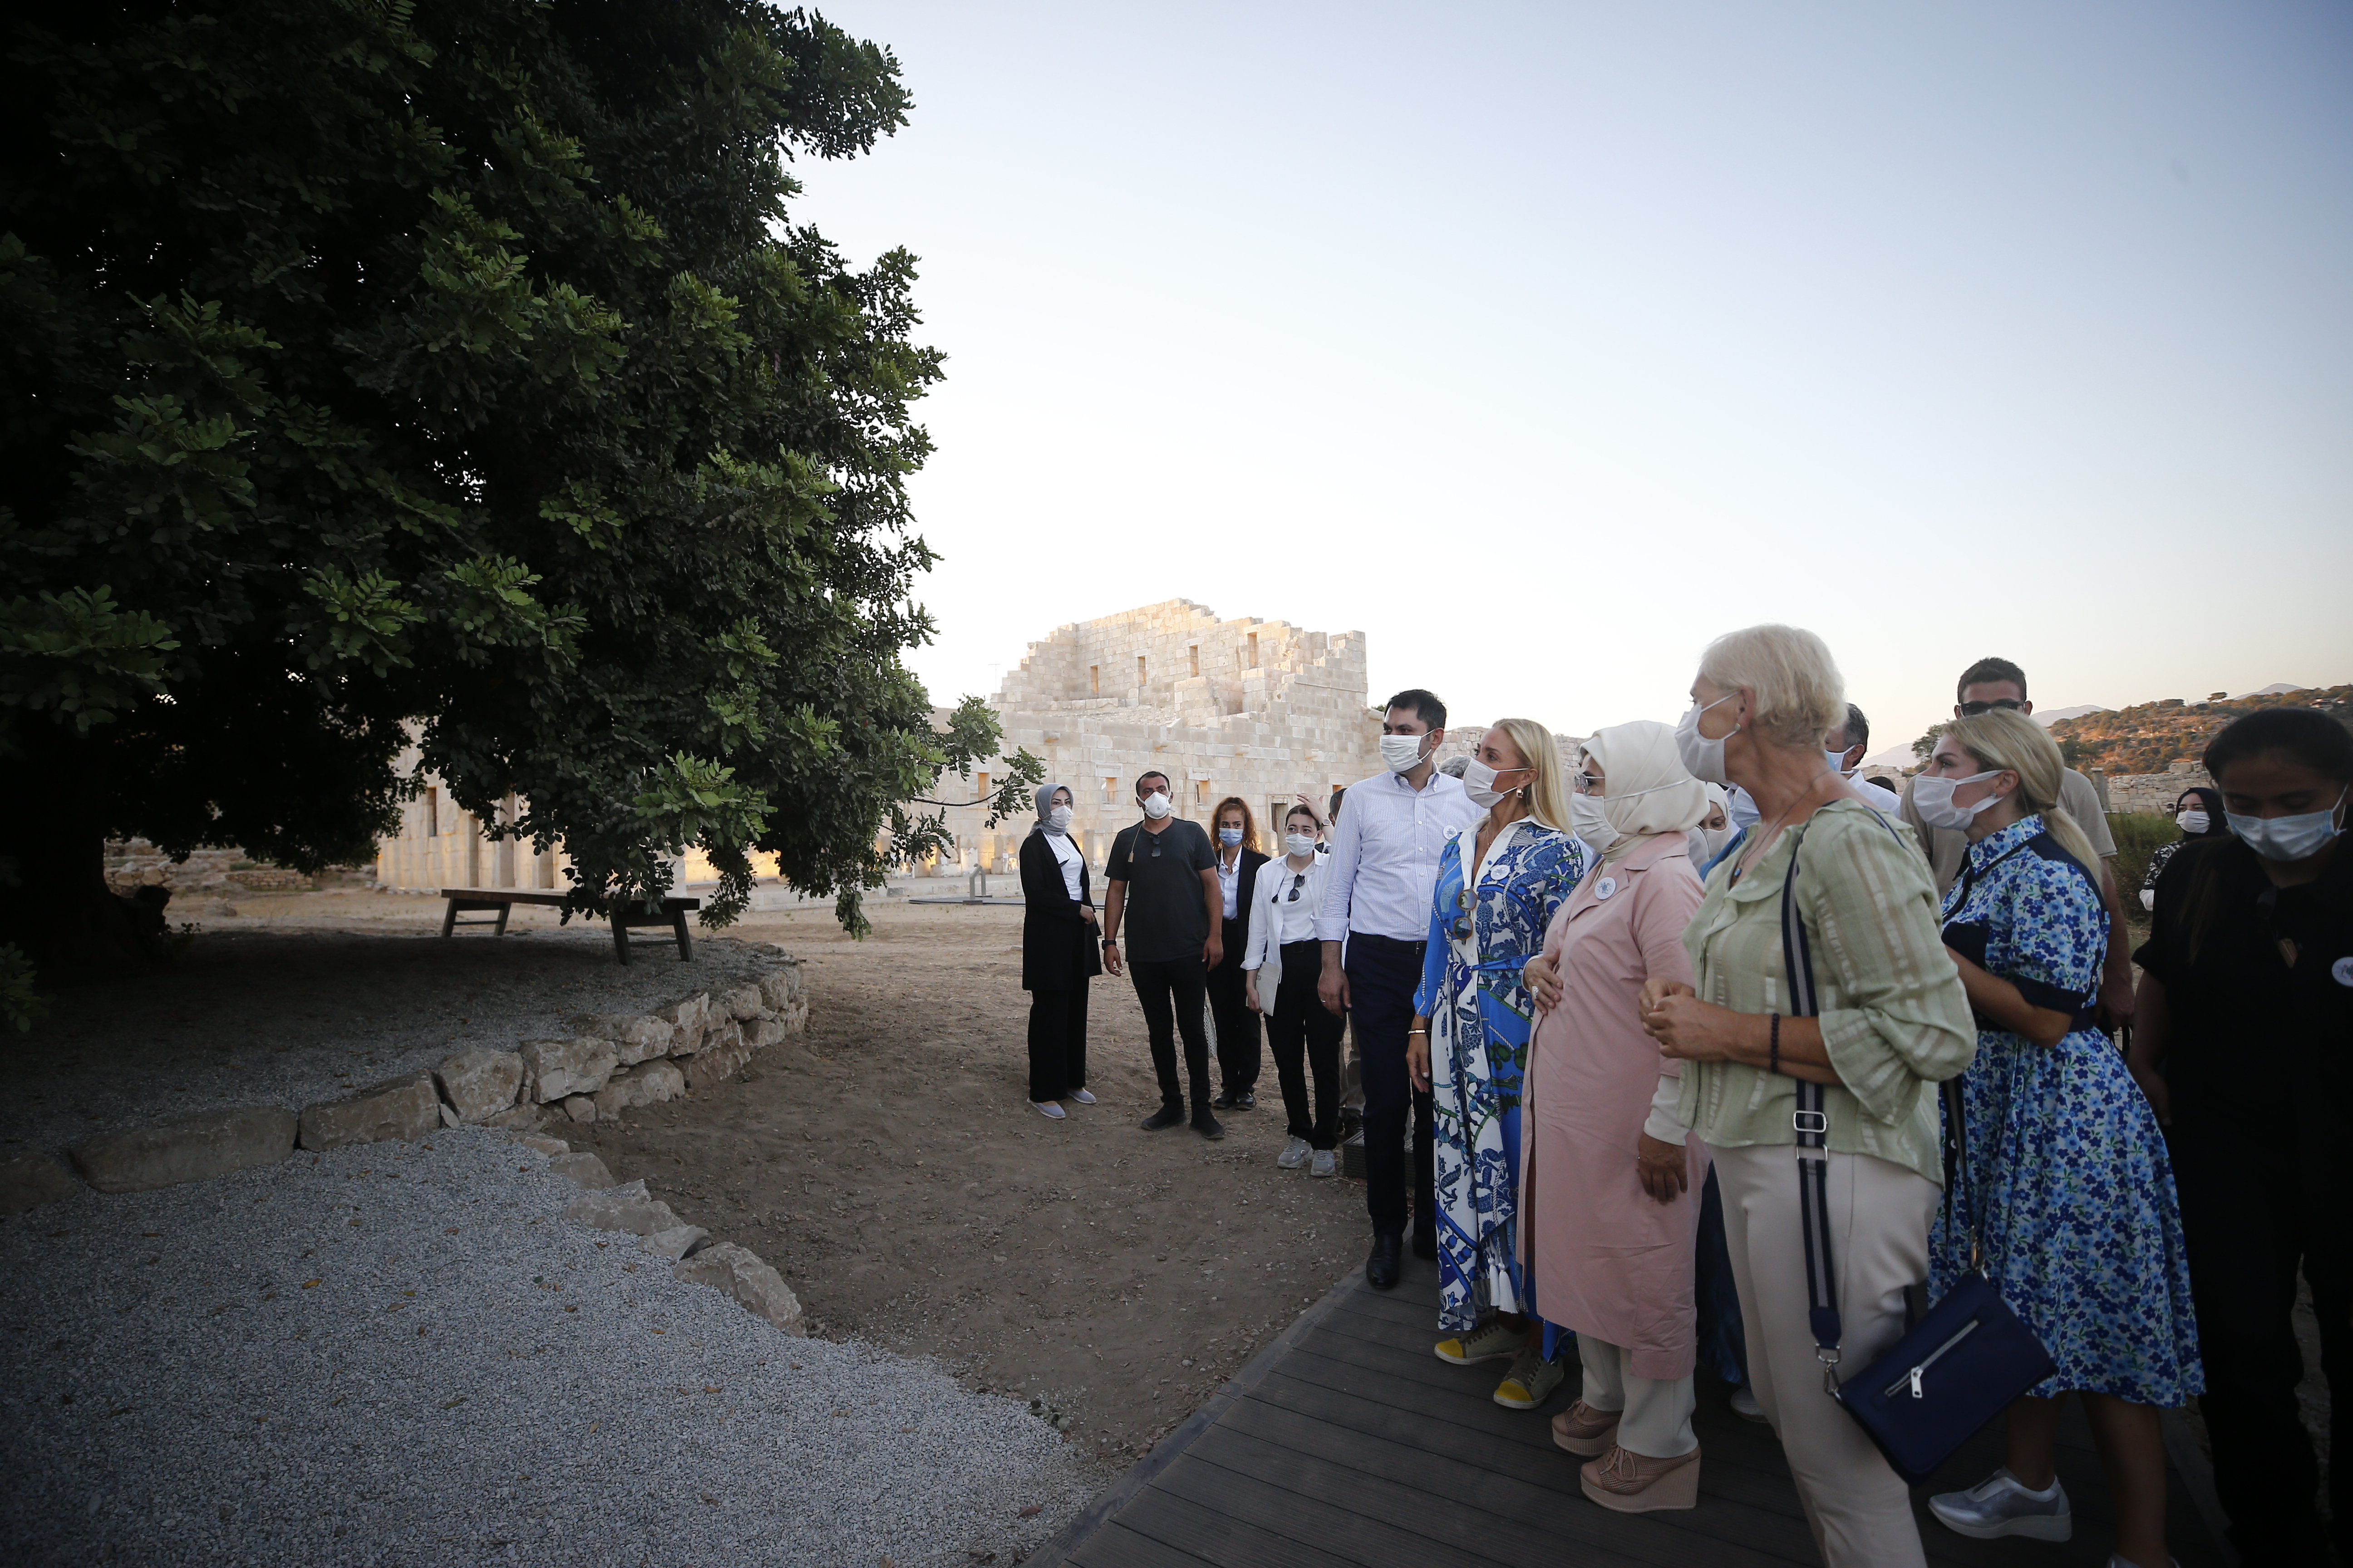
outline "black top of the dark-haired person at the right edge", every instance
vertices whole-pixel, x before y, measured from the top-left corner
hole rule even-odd
[[[2287,1143],[2292,1117],[2306,1147],[2339,1138],[2353,1103],[2353,844],[2339,842],[2315,882],[2282,889],[2235,837],[2191,839],[2158,877],[2155,924],[2132,959],[2165,983],[2177,1128]]]

